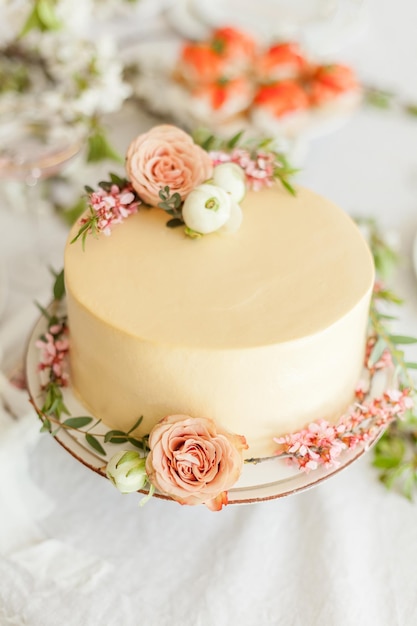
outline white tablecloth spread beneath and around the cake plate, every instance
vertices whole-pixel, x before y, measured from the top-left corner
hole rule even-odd
[[[339,56],[365,81],[417,100],[416,27],[411,0],[374,0],[366,33]],[[151,125],[134,107],[109,122],[121,149]],[[298,177],[397,235],[398,327],[414,335],[416,146],[417,119],[363,109],[311,145]],[[23,358],[33,302],[49,300],[47,268],[62,266],[66,234],[57,216],[0,207],[3,374]],[[417,623],[417,509],[378,482],[372,453],[284,499],[220,513],[156,499],[138,508],[136,494],[122,496],[40,435],[26,395],[4,376],[0,398],[1,626]]]

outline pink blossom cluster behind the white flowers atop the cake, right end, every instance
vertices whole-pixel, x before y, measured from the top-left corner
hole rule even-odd
[[[250,189],[260,191],[263,187],[271,187],[274,182],[274,173],[277,166],[274,154],[257,150],[254,153],[242,148],[235,148],[232,152],[209,152],[213,166],[220,163],[236,163],[246,174],[246,181]]]

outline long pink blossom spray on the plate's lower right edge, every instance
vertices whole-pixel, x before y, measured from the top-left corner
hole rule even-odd
[[[388,424],[412,408],[409,391],[387,391],[366,404],[356,404],[337,424],[318,420],[299,432],[276,437],[276,455],[290,456],[289,462],[306,472],[319,465],[337,467],[343,450],[372,442]]]

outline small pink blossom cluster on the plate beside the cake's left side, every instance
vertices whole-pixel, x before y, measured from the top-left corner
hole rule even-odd
[[[67,333],[68,327],[64,323],[53,324],[35,343],[41,350],[39,371],[49,370],[50,379],[61,387],[68,385],[68,372],[65,366],[65,357],[69,350]]]

